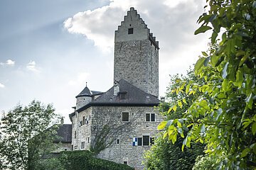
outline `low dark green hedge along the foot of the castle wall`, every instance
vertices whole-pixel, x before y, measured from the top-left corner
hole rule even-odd
[[[125,164],[117,164],[105,159],[97,159],[90,151],[61,152],[58,158],[66,170],[132,170]]]

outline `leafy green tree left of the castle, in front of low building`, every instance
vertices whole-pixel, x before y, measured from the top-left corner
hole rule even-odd
[[[0,157],[8,169],[36,169],[44,154],[53,148],[60,116],[53,106],[32,101],[18,104],[1,118]],[[49,128],[53,125],[52,128]]]

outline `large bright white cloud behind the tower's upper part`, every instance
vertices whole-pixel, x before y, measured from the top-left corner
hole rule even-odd
[[[102,50],[114,47],[114,30],[133,6],[159,40],[160,92],[164,93],[169,74],[186,73],[201,51],[206,50],[209,34],[194,35],[203,0],[110,0],[110,4],[75,14],[64,22],[70,33],[85,35]]]

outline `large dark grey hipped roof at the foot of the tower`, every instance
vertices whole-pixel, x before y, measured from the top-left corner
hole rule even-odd
[[[158,106],[160,103],[156,96],[147,94],[124,79],[119,81],[119,94],[124,94],[125,98],[120,98],[120,95],[114,96],[114,86],[112,86],[111,89],[99,96],[95,101],[82,106],[77,111],[84,111],[90,106]]]

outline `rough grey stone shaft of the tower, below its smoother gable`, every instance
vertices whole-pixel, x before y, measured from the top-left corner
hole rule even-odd
[[[114,43],[114,80],[120,79],[159,96],[159,50],[150,40]]]

